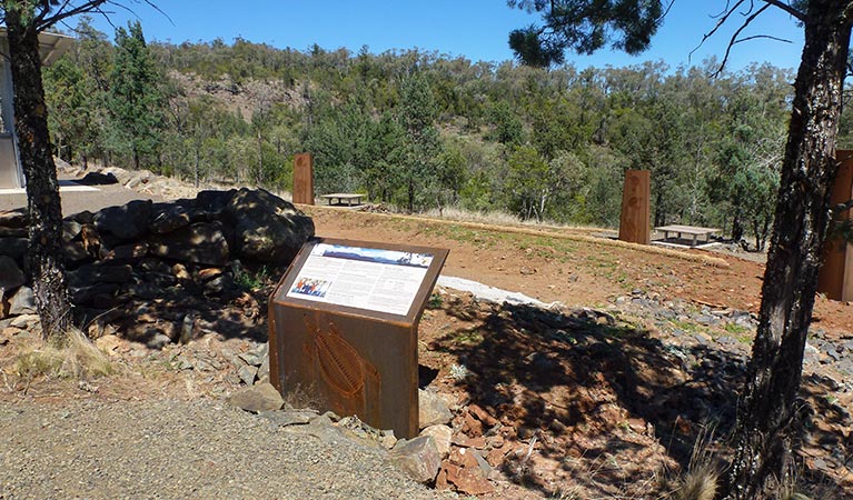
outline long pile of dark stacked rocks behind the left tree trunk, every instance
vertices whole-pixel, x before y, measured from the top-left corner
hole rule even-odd
[[[27,223],[24,210],[0,213],[0,320],[33,310],[23,272]],[[311,219],[292,204],[246,188],[76,213],[62,229],[71,299],[97,330],[89,333],[119,323],[149,346],[212,328],[227,314],[224,303],[248,308],[242,320],[259,316],[264,304],[239,282],[261,267],[285,269],[314,236]]]

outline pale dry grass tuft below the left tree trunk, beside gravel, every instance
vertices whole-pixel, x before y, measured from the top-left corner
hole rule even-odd
[[[68,332],[68,342],[63,347],[34,341],[18,354],[14,370],[26,380],[37,377],[88,379],[116,372],[107,354],[77,329]]]

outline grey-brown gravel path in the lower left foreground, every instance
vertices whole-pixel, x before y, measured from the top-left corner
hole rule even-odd
[[[0,402],[0,499],[439,498],[379,451],[210,400]]]

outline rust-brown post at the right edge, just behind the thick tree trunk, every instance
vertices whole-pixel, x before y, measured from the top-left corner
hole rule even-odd
[[[839,173],[832,186],[830,204],[836,206],[853,199],[853,150],[835,151]],[[844,211],[837,219],[850,219],[850,211]],[[832,231],[832,227],[830,227]],[[817,291],[832,300],[853,300],[853,251],[851,244],[832,232],[823,243],[823,263],[817,273]]]

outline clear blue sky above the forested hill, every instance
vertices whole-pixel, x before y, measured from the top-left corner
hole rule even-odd
[[[418,48],[470,60],[504,61],[513,58],[507,47],[509,31],[538,21],[506,7],[504,0],[155,0],[171,19],[143,3],[129,3],[149,40],[210,41],[221,38],[231,42],[242,37],[274,47],[306,50],[317,43],[324,49],[345,47],[353,52],[368,46],[370,52]],[[671,67],[700,64],[708,56],[722,58],[735,22],[706,41],[691,57],[691,51],[710,31],[713,14],[722,0],[680,0],[672,8],[664,26],[653,39],[649,51],[631,57],[602,50],[591,57],[568,54],[567,61],[579,69],[607,64],[623,67],[645,60],[664,60]],[[239,7],[236,7],[239,6]],[[115,26],[123,26],[132,17],[117,11]],[[802,30],[786,14],[770,9],[760,22],[744,34],[770,34],[791,40],[783,43],[753,40],[736,46],[730,57],[731,70],[752,62],[770,62],[781,68],[796,69],[802,52]],[[103,19],[95,24],[112,38],[113,29]]]

